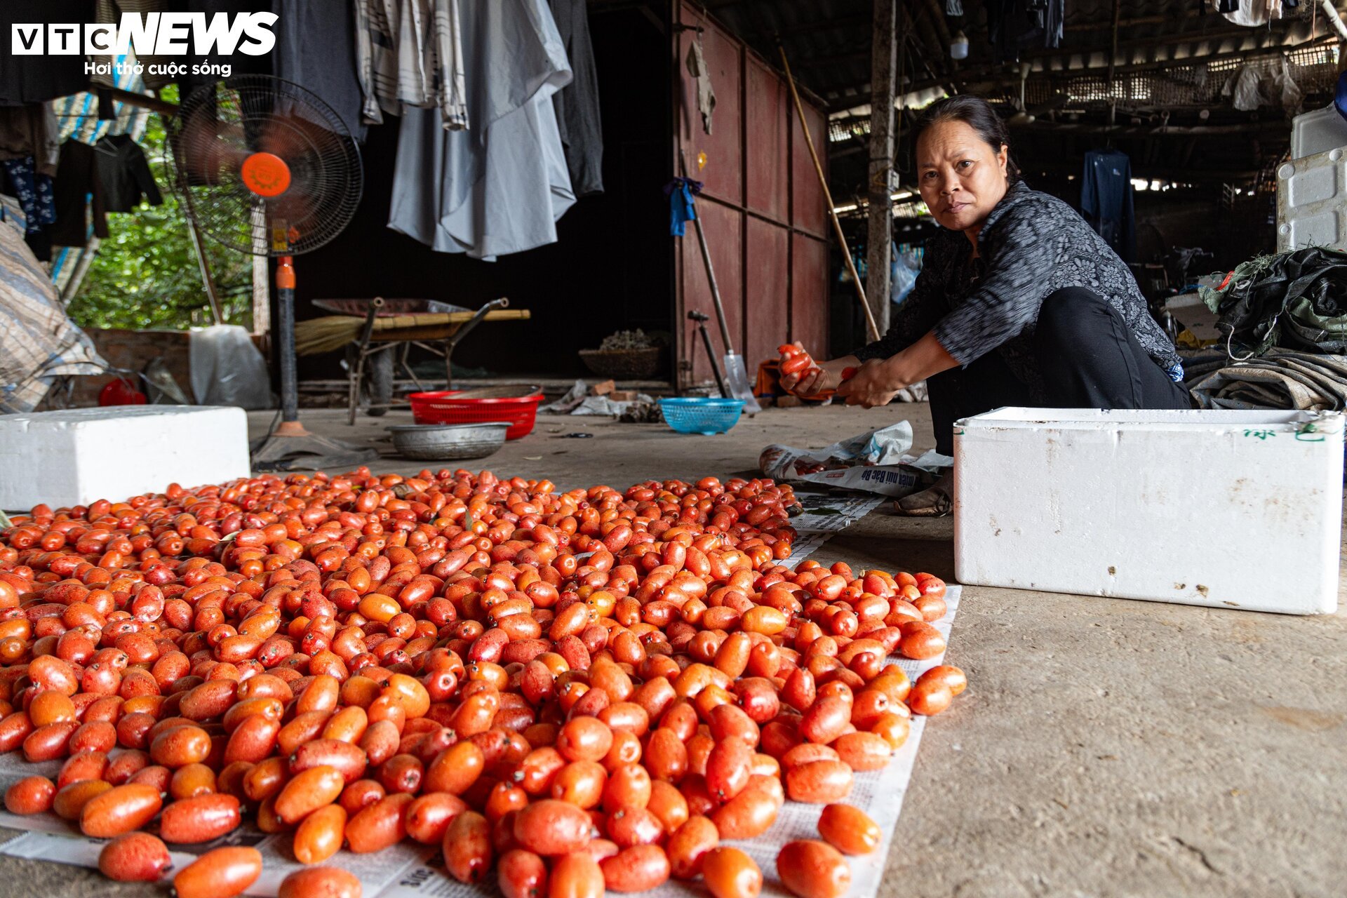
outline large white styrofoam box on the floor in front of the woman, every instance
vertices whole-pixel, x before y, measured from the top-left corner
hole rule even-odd
[[[1002,408],[954,432],[960,583],[1338,607],[1342,412]]]

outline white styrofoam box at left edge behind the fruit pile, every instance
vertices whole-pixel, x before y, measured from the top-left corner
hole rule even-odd
[[[0,509],[120,502],[248,477],[241,408],[113,405],[0,415]]]

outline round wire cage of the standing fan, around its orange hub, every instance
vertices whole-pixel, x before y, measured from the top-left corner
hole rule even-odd
[[[313,252],[360,205],[360,147],[350,128],[321,97],[282,78],[240,75],[198,88],[168,120],[168,144],[167,180],[183,210],[238,252]],[[253,152],[275,153],[290,168],[279,197],[259,197],[244,183],[240,167]]]

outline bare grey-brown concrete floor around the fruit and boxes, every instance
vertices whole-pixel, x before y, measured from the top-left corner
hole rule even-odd
[[[924,405],[769,409],[714,438],[544,416],[528,438],[467,466],[563,487],[748,474],[768,443],[822,447],[902,416],[917,448],[933,444]],[[269,416],[251,417],[265,432]],[[408,419],[348,429],[338,412],[304,413],[311,429],[358,439]],[[952,579],[951,540],[948,518],[881,508],[818,555]],[[1347,613],[1293,618],[968,587],[948,658],[970,687],[925,731],[884,898],[1347,890]],[[0,883],[0,895],[159,894],[9,858]]]

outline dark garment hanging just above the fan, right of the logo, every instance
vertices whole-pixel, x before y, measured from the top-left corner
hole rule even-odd
[[[279,16],[273,27],[276,48],[272,51],[276,75],[318,94],[356,140],[365,140],[352,8],[272,0],[271,11]]]

